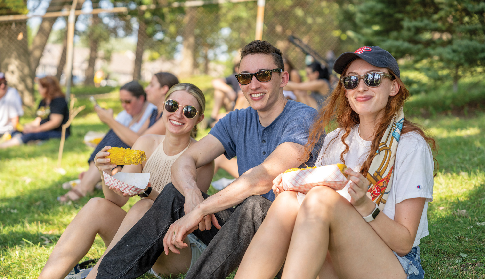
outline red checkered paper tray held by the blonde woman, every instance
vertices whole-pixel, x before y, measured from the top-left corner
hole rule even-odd
[[[117,172],[111,176],[103,171],[103,176],[104,183],[107,186],[114,187],[129,195],[143,193],[150,180],[150,174],[142,172]]]

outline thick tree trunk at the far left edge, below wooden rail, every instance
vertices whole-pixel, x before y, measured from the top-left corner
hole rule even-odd
[[[8,85],[16,88],[25,106],[34,108],[33,76],[29,65],[27,22],[0,24],[0,69]]]

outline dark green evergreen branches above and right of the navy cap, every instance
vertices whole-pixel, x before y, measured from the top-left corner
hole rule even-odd
[[[485,63],[485,3],[478,0],[352,1],[349,31],[411,63],[427,60],[456,82]],[[350,6],[350,5],[349,5]]]

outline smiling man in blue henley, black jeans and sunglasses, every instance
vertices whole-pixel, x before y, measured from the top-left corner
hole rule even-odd
[[[178,158],[172,166],[173,184],[165,186],[145,216],[108,247],[88,278],[96,272],[96,278],[141,276],[162,252],[187,248],[183,240],[191,232],[208,246],[186,279],[224,279],[237,268],[275,199],[273,179],[304,163],[303,147],[317,114],[284,97],[289,74],[281,51],[268,42],[245,46],[239,70],[236,77],[251,107],[230,112]],[[316,148],[312,157],[318,152]],[[196,168],[221,154],[228,159],[237,156],[240,176],[208,196],[196,186]]]

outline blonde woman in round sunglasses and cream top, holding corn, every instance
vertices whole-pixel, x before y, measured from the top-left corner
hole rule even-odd
[[[204,118],[205,97],[195,85],[180,83],[168,91],[166,99],[162,116],[166,127],[165,135],[148,134],[138,138],[133,149],[145,151],[148,159],[140,165],[126,165],[121,170],[150,173],[150,183],[145,189],[148,196],[145,193],[140,194],[144,198],[136,202],[127,213],[121,207],[130,196],[106,186],[103,180],[105,198],[92,198],[82,207],[59,238],[39,279],[64,278],[89,251],[96,234],[101,236],[109,250],[145,214],[163,187],[170,183],[172,164],[196,142],[191,134],[194,136],[197,124]],[[110,174],[111,169],[116,166],[110,163],[110,159],[105,158],[109,155],[110,148],[103,147],[94,159],[101,178],[103,171]],[[196,171],[197,187],[203,192],[210,186],[213,168],[213,162],[208,162]],[[190,249],[185,249],[180,255],[162,255],[153,264],[151,273],[187,272],[187,268],[194,264],[206,246],[193,234],[188,236],[186,243]]]

